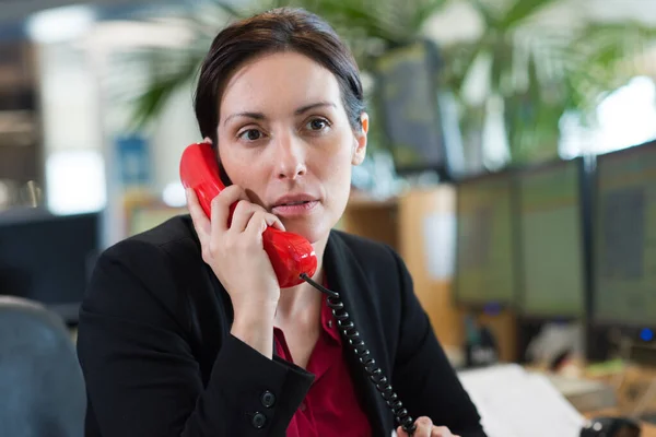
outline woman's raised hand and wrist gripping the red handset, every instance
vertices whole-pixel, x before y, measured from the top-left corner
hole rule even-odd
[[[253,342],[268,339],[260,339],[257,331],[262,334],[272,331],[280,298],[278,279],[263,249],[262,233],[267,226],[281,231],[284,226],[276,215],[251,203],[238,186],[226,187],[212,200],[211,220],[194,190],[187,189],[186,193],[202,259],[230,294],[235,314],[233,328],[239,331],[237,336],[259,350]],[[229,225],[230,206],[235,202],[238,203]],[[270,350],[271,343],[263,347]]]

